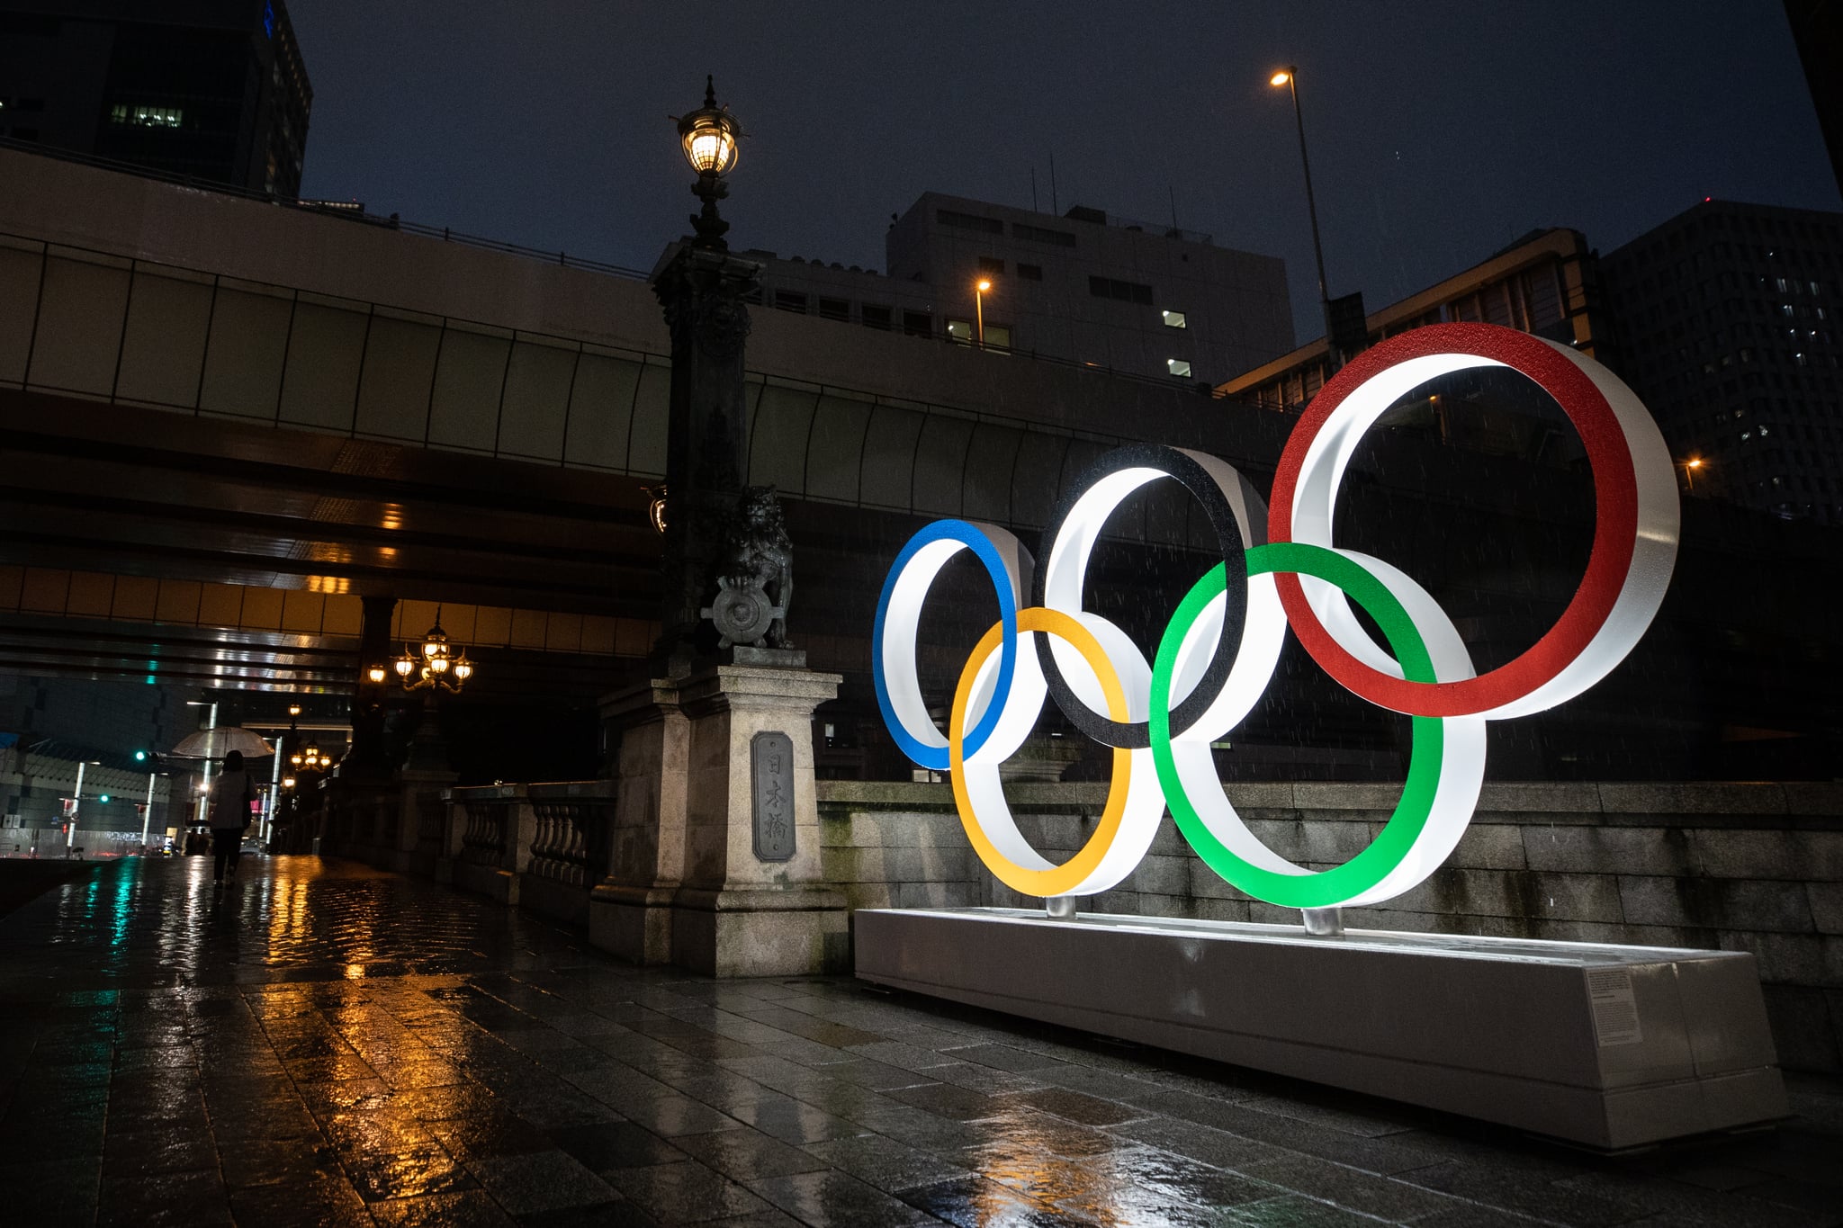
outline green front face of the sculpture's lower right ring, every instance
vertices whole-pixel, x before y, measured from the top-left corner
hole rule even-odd
[[[1414,740],[1408,755],[1408,781],[1403,784],[1401,801],[1390,816],[1382,832],[1368,849],[1353,856],[1344,865],[1327,871],[1307,871],[1301,875],[1281,875],[1262,869],[1229,851],[1203,825],[1196,806],[1183,792],[1178,777],[1178,762],[1170,749],[1170,683],[1178,663],[1178,648],[1189,633],[1191,624],[1203,613],[1226,587],[1226,567],[1216,563],[1209,574],[1198,580],[1178,604],[1170,626],[1157,646],[1157,661],[1152,665],[1152,762],[1157,764],[1157,779],[1165,788],[1165,801],[1170,816],[1178,821],[1178,830],[1189,841],[1209,869],[1216,871],[1229,886],[1246,891],[1257,900],[1279,904],[1283,908],[1338,908],[1345,900],[1356,898],[1382,882],[1414,851],[1415,841],[1426,828],[1426,819],[1434,810],[1434,795],[1439,790],[1439,770],[1445,757],[1445,725],[1439,716],[1415,716]],[[1403,674],[1414,683],[1432,683],[1434,661],[1426,652],[1421,630],[1403,608],[1395,595],[1362,565],[1351,562],[1336,550],[1301,541],[1275,541],[1257,545],[1248,550],[1248,574],[1290,571],[1301,576],[1316,576],[1334,584],[1362,606],[1382,628],[1390,650],[1401,661]]]

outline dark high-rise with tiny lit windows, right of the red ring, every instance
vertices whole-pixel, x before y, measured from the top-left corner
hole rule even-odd
[[[1843,214],[1703,201],[1602,267],[1685,488],[1843,523]]]

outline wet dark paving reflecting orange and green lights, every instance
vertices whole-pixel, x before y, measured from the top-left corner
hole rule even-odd
[[[1843,1084],[1618,1160],[317,858],[0,921],[9,1224],[1837,1224]]]

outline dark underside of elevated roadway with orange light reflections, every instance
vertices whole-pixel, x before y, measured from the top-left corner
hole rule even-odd
[[[656,585],[632,479],[0,388],[0,668],[343,690],[359,598],[396,597],[483,692],[581,696]]]

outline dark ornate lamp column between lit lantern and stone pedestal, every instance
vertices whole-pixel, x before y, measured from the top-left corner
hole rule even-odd
[[[662,630],[649,663],[654,678],[678,678],[698,654],[717,646],[698,611],[724,521],[748,469],[743,296],[759,285],[759,263],[700,247],[680,249],[652,282],[673,335]]]

